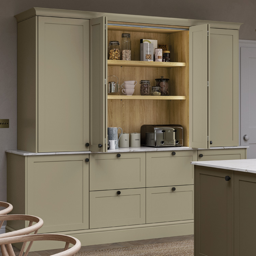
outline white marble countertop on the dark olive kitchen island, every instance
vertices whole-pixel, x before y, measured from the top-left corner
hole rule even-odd
[[[236,159],[190,162],[192,165],[256,173],[256,159]]]

